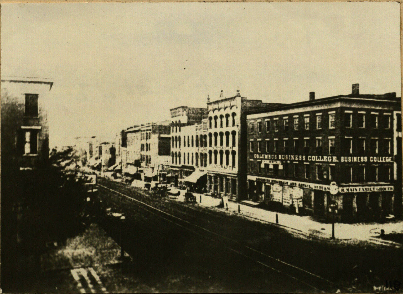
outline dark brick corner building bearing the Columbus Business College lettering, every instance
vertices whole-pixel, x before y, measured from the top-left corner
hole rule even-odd
[[[401,99],[352,93],[247,115],[248,199],[341,220],[401,214]],[[339,187],[330,194],[330,183]],[[302,208],[302,210],[301,210]]]

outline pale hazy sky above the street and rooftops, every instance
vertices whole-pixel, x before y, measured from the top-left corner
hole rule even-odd
[[[397,2],[2,4],[1,74],[51,78],[50,147],[232,97],[401,95]]]

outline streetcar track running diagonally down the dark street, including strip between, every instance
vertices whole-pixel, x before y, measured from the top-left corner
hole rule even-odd
[[[269,254],[253,249],[250,246],[242,245],[233,238],[222,236],[216,232],[213,232],[212,230],[209,230],[208,228],[205,228],[204,226],[200,226],[198,224],[189,222],[188,220],[170,214],[164,210],[156,208],[150,204],[147,204],[139,199],[126,195],[125,193],[122,193],[115,189],[111,189],[110,187],[107,187],[105,185],[99,183],[97,185],[102,189],[106,189],[108,191],[111,191],[112,193],[115,193],[117,195],[120,195],[133,201],[132,203],[135,204],[135,206],[141,208],[144,211],[147,211],[150,214],[153,214],[176,226],[179,226],[183,230],[187,230],[192,234],[199,236],[200,238],[205,238],[213,242],[218,242],[220,245],[223,245],[229,251],[237,255],[241,255],[253,262],[256,262],[261,266],[265,267],[266,269],[284,275],[297,283],[308,286],[315,292],[330,292],[330,291],[335,292],[337,289],[343,292],[349,292],[347,289],[338,287],[334,282],[324,277],[321,277],[320,275],[311,273],[310,271],[307,271],[301,267],[292,265]],[[124,188],[124,186],[122,188]],[[179,213],[187,214],[186,212],[183,211],[179,211]],[[189,216],[189,214],[187,215]]]

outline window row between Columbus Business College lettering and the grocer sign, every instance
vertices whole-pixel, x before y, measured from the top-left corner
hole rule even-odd
[[[372,164],[368,167],[364,164],[343,165],[341,169],[341,173],[336,175],[336,167],[333,164],[314,164],[312,167],[307,162],[283,162],[280,169],[279,164],[265,163],[262,165],[261,161],[249,161],[249,173],[251,174],[316,181],[340,181],[343,183],[386,182],[391,180],[391,165]]]

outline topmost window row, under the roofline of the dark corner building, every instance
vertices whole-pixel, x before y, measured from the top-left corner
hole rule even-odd
[[[311,117],[314,119],[314,129],[322,130],[326,127],[328,129],[336,128],[336,113],[335,111],[329,111],[328,113],[328,124],[324,124],[324,116],[322,113],[314,113],[311,114],[303,114],[293,115],[292,120],[292,129],[295,131],[299,130],[310,130],[312,128]],[[368,123],[367,123],[368,120]],[[373,129],[390,129],[391,128],[391,113],[384,113],[383,115],[379,115],[377,112],[366,113],[366,111],[358,111],[357,113],[353,113],[353,111],[345,111],[344,113],[344,126],[345,127],[357,127],[357,128],[366,128],[370,127]],[[279,117],[268,118],[265,119],[264,123],[262,121],[254,121],[249,122],[249,132],[255,132],[256,129],[259,133],[266,131],[274,131],[279,132],[280,130],[289,131],[290,130],[290,117],[283,117],[280,123]],[[265,130],[263,129],[265,128]],[[399,126],[397,126],[399,128]],[[401,124],[400,124],[401,129]]]

